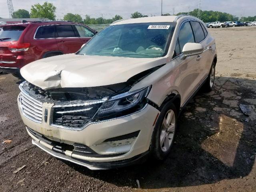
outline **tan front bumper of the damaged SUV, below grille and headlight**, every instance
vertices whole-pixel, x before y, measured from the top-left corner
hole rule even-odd
[[[18,106],[20,110],[19,100]],[[52,104],[45,103],[42,111],[45,109],[50,110],[51,108]],[[140,161],[140,157],[144,156],[149,150],[154,129],[153,124],[158,113],[159,111],[156,108],[146,104],[143,110],[130,116],[90,124],[83,130],[78,131],[51,126],[48,123],[50,122],[49,119],[47,122],[42,121],[42,123],[33,122],[26,118],[20,110],[24,124],[47,139],[68,145],[83,144],[99,156],[77,154],[72,150],[58,153],[52,150],[54,146],[36,138],[28,131],[28,134],[33,138],[33,144],[57,158],[65,159],[90,169],[108,169]],[[115,148],[108,146],[111,142],[106,142],[110,138],[120,138],[120,136],[138,131],[138,136],[130,144],[120,145]],[[122,139],[120,143],[123,141],[125,140]],[[116,143],[119,143],[119,140]]]

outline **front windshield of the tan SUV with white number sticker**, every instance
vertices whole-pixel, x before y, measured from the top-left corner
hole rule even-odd
[[[96,34],[80,55],[156,58],[165,56],[176,23],[138,23],[108,26]]]

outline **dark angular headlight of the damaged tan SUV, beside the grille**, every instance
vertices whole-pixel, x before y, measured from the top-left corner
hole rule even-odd
[[[146,104],[144,98],[149,90],[150,87],[146,87],[111,97],[102,104],[94,119],[102,120],[124,116],[142,109]]]

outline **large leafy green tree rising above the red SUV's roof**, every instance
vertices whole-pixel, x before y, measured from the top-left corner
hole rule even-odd
[[[32,5],[30,17],[31,18],[48,18],[55,20],[56,18],[56,7],[52,3],[44,2],[40,5],[39,3]]]

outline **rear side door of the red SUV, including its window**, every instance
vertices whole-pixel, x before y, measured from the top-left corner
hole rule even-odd
[[[75,53],[81,48],[83,43],[72,25],[56,25],[55,28],[59,50],[64,54]]]

